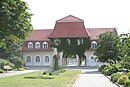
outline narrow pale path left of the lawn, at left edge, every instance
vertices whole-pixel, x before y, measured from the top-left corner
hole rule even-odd
[[[25,74],[25,73],[34,72],[34,71],[37,71],[37,70],[8,71],[7,73],[0,74],[0,78],[8,77],[8,76],[14,76],[14,75],[20,75],[20,74]]]

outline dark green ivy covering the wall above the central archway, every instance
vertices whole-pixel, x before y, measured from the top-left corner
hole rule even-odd
[[[78,42],[79,41],[79,42]],[[80,62],[85,58],[84,52],[90,47],[89,38],[51,38],[51,46],[63,52],[66,58],[70,55],[79,55]]]

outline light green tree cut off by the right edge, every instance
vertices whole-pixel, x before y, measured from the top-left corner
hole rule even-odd
[[[124,68],[130,70],[130,34],[121,34],[120,42],[117,45],[119,49],[119,57]]]

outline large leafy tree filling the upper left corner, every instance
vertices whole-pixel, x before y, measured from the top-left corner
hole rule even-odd
[[[25,39],[32,30],[32,14],[28,10],[29,8],[24,1],[0,0],[1,58],[10,57],[10,52],[15,53],[14,47],[20,46],[20,41]]]

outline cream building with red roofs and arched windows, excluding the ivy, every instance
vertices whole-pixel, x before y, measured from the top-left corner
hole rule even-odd
[[[98,36],[105,32],[115,32],[115,28],[85,28],[84,21],[72,15],[66,16],[56,21],[54,29],[33,30],[23,45],[23,59],[26,66],[49,66],[53,63],[53,56],[57,53],[55,48],[51,48],[50,38],[83,38],[89,37],[91,46],[84,53],[86,66],[98,66],[94,48],[97,46]],[[77,40],[78,41],[78,40]],[[79,57],[67,58],[66,62],[76,64]],[[65,65],[65,58],[60,52],[60,64]]]

